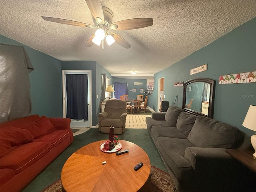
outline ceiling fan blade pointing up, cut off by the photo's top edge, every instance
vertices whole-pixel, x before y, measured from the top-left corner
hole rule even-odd
[[[85,0],[92,16],[98,22],[104,22],[104,14],[100,0]]]

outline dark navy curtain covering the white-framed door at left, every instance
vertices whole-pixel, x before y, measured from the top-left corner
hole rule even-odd
[[[88,120],[87,75],[66,74],[67,118]]]

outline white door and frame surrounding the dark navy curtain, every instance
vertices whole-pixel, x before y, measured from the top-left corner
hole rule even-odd
[[[71,119],[70,127],[89,127],[92,126],[92,71],[89,70],[62,70],[62,100],[63,100],[63,118],[67,114],[67,87],[66,74],[86,74],[88,77],[88,121]]]

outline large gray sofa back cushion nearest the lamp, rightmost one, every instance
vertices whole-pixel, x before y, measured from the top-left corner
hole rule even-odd
[[[234,126],[198,116],[188,140],[196,147],[233,148],[242,142],[242,134]]]

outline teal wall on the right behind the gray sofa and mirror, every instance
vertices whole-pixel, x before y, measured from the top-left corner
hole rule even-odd
[[[190,75],[190,69],[206,63],[207,71]],[[165,100],[172,105],[178,95],[178,106],[182,107],[183,87],[174,87],[174,82],[198,77],[216,80],[214,119],[252,135],[254,132],[242,123],[249,106],[256,105],[256,83],[218,84],[221,75],[250,71],[256,71],[256,18],[156,73],[154,90],[158,90],[158,79],[164,77]],[[154,91],[148,105],[156,111],[157,102],[157,91]]]

